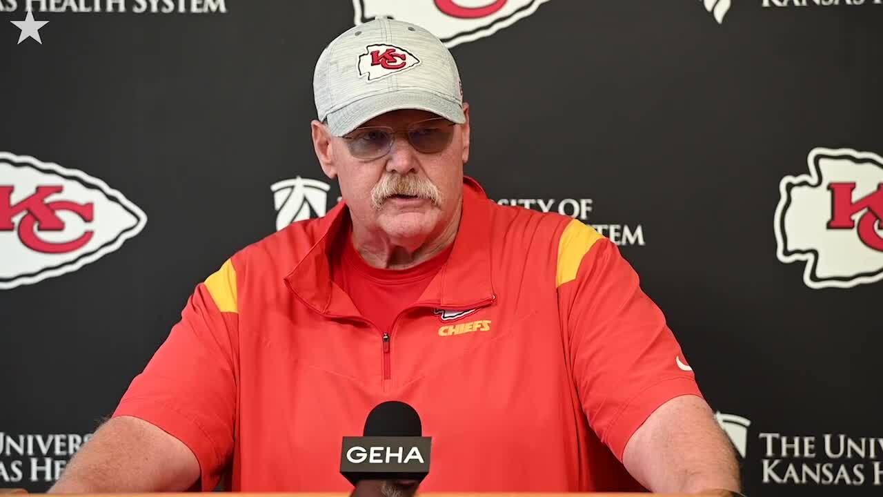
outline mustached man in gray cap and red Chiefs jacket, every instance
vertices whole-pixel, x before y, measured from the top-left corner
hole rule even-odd
[[[464,177],[470,109],[442,42],[392,19],[353,27],[313,90],[316,157],[343,203],[196,287],[53,492],[345,491],[341,437],[388,400],[433,437],[421,491],[738,490],[615,245]]]

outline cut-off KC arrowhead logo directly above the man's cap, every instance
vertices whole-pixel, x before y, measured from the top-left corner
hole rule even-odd
[[[352,0],[358,26],[378,16],[412,22],[448,48],[490,36],[537,10],[548,0]]]

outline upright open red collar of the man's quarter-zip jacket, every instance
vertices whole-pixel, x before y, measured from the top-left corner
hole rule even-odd
[[[491,204],[476,180],[464,176],[463,183],[463,211],[454,247],[448,261],[415,305],[465,309],[484,305],[495,298],[491,284]],[[332,281],[328,262],[330,244],[345,226],[343,221],[348,215],[348,208],[341,201],[325,217],[315,221],[320,223],[318,233],[321,236],[284,278],[291,292],[322,314],[358,314],[349,296]]]

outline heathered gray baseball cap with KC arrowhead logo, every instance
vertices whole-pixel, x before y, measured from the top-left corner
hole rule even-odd
[[[449,50],[426,29],[389,18],[352,27],[322,50],[313,97],[319,120],[335,136],[399,109],[466,121],[460,73]]]

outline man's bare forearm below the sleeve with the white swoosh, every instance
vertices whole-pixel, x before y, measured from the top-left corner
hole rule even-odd
[[[662,404],[631,436],[623,464],[652,492],[738,492],[739,466],[712,409],[696,395]],[[716,492],[716,493],[715,493]]]

